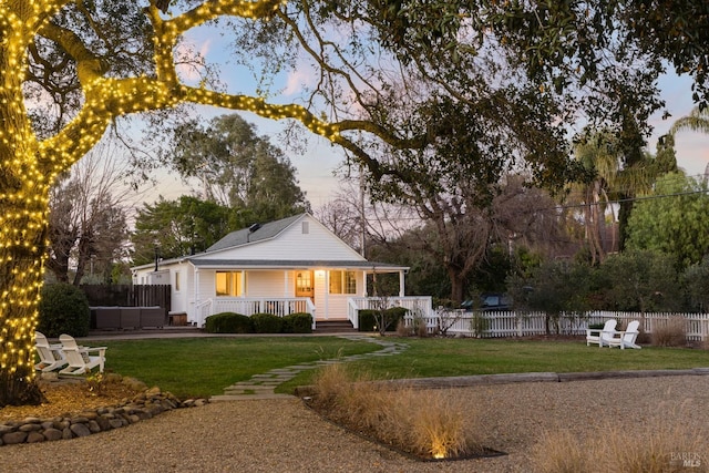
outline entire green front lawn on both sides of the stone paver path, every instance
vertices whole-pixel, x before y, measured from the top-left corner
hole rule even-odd
[[[390,338],[402,354],[351,363],[378,379],[513,372],[574,372],[709,367],[709,351],[646,347],[600,349],[578,341]],[[275,368],[376,351],[378,346],[336,337],[194,338],[94,342],[109,347],[106,369],[158,385],[179,398],[208,397]],[[277,391],[309,384],[305,371]]]

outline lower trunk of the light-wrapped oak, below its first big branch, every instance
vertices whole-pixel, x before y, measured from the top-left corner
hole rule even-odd
[[[0,162],[6,163],[0,174],[0,408],[43,400],[35,383],[34,330],[44,274],[49,179],[28,148],[27,142],[10,150],[0,146]]]

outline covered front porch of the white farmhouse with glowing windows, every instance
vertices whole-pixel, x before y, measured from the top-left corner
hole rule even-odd
[[[188,320],[202,327],[220,312],[246,316],[307,312],[320,321],[350,320],[350,299],[367,298],[368,284],[387,276],[391,299],[405,299],[407,267],[369,261],[192,260],[194,294]],[[402,300],[403,300],[402,299]],[[361,305],[361,302],[358,302]]]

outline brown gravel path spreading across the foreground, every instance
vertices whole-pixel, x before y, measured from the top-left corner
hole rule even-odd
[[[709,463],[709,376],[481,385],[450,393],[465,400],[471,418],[479,412],[483,443],[507,455],[410,460],[322,421],[292,398],[215,402],[88,438],[6,445],[0,471],[530,472],[545,431],[599,435],[609,424],[644,430],[657,422],[696,430],[703,443],[698,453]]]

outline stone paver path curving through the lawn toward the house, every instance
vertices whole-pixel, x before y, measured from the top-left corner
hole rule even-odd
[[[364,360],[367,358],[374,357],[390,357],[392,354],[399,354],[409,348],[405,343],[397,343],[382,338],[373,338],[369,336],[351,335],[340,336],[348,340],[368,341],[381,346],[380,350],[371,353],[352,354],[349,357],[341,357],[331,360],[318,360],[300,364],[294,364],[285,368],[276,368],[263,374],[254,374],[251,379],[247,381],[239,381],[224,390],[223,395],[213,395],[210,401],[236,401],[244,399],[277,399],[277,398],[292,398],[290,394],[276,394],[274,390],[277,385],[290,381],[296,376],[305,370],[312,370],[327,364],[342,363],[347,361]]]

